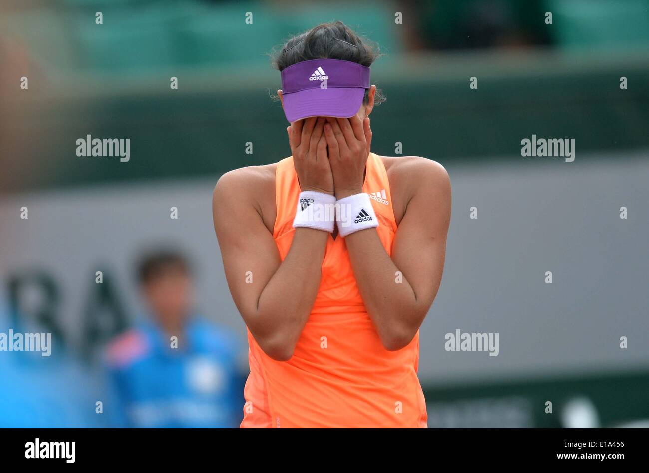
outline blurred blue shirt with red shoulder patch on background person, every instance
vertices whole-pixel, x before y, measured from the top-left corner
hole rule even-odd
[[[113,418],[132,427],[234,427],[242,416],[238,343],[230,332],[191,320],[171,348],[151,322],[121,335],[108,349],[116,395]]]

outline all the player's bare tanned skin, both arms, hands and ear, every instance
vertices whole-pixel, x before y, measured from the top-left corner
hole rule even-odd
[[[313,117],[287,128],[302,190],[342,199],[362,191],[371,149],[369,100],[350,119]],[[282,91],[278,91],[282,97]],[[397,234],[388,256],[375,228],[345,237],[363,302],[387,350],[408,345],[432,305],[444,269],[451,189],[448,173],[419,156],[380,156]],[[214,228],[232,298],[262,350],[286,361],[313,308],[330,234],[296,228],[284,261],[273,240],[276,164],[242,167],[214,188]],[[334,237],[337,232],[334,233]],[[246,284],[251,271],[254,284]],[[397,271],[402,284],[396,284]]]

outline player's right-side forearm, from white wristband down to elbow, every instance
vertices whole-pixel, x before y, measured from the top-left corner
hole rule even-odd
[[[356,284],[365,308],[387,349],[398,350],[410,343],[428,300],[418,298],[403,274],[388,256],[374,228],[345,238]]]

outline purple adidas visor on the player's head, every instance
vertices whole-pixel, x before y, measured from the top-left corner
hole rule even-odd
[[[282,71],[282,100],[286,119],[349,118],[369,89],[369,67],[339,59],[312,59]]]

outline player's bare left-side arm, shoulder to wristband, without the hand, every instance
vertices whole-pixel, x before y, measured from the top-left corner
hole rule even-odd
[[[280,261],[273,235],[246,196],[250,187],[241,171],[223,175],[214,189],[214,228],[225,276],[254,339],[268,356],[285,361],[313,307],[328,233],[296,228]]]

